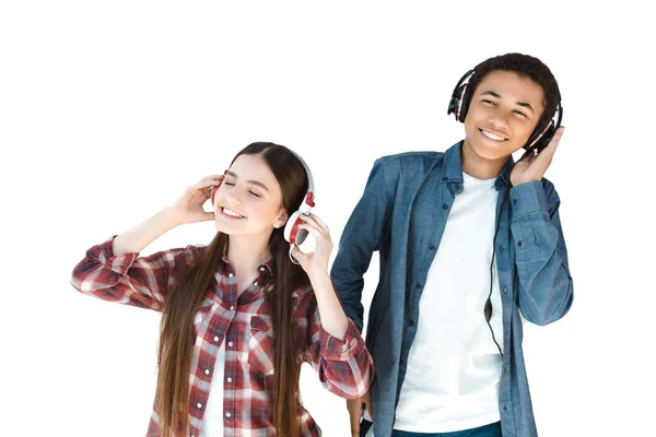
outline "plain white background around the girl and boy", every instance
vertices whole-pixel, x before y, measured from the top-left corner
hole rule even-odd
[[[159,314],[78,294],[87,247],[253,141],[307,161],[337,246],[374,160],[460,140],[454,85],[508,51],[551,68],[567,127],[547,176],[574,306],[525,336],[540,436],[656,435],[651,14],[637,1],[354,3],[1,3],[1,435],[145,434]],[[144,253],[212,235],[187,225]],[[367,307],[376,276],[377,261]],[[326,436],[349,435],[344,401],[309,368],[302,394]]]

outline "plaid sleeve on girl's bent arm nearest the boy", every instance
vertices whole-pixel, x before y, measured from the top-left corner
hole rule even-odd
[[[314,292],[303,296],[300,307],[308,315],[309,361],[324,387],[341,398],[364,395],[374,378],[374,362],[355,323],[349,319],[344,340],[340,340],[321,327]]]

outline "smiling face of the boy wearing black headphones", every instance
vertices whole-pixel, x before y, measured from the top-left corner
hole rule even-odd
[[[483,160],[507,160],[526,144],[544,105],[542,87],[511,71],[492,71],[475,90],[465,118],[465,146]]]

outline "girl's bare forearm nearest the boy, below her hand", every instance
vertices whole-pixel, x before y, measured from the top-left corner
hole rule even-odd
[[[341,307],[327,272],[309,276],[317,298],[321,319],[321,328],[336,339],[343,340],[349,327],[349,319]]]

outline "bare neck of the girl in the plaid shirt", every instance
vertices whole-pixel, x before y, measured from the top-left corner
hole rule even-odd
[[[269,238],[271,234],[231,235],[227,245],[227,261],[237,275],[249,274],[271,258]]]

